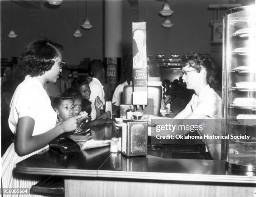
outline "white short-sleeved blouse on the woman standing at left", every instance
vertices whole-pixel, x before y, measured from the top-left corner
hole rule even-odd
[[[26,76],[14,92],[9,115],[9,127],[14,134],[18,119],[25,116],[35,121],[32,135],[40,135],[56,126],[56,112],[51,107],[43,85],[36,77]]]

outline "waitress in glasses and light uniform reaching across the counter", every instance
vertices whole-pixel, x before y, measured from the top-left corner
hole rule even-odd
[[[195,94],[189,101],[184,110],[179,112],[174,119],[179,119],[178,124],[182,125],[204,125],[203,130],[199,131],[199,135],[204,134],[220,135],[221,125],[216,124],[220,121],[210,119],[221,118],[221,98],[210,88],[209,84],[213,82],[216,76],[215,62],[211,57],[201,55],[199,53],[189,52],[184,55],[181,60],[182,79],[187,85],[187,89],[195,90]],[[166,117],[158,117],[153,115],[143,115],[142,120],[159,119]],[[193,119],[193,120],[188,120]],[[194,120],[195,119],[195,120]],[[207,120],[208,119],[208,120]],[[176,122],[177,123],[177,122]],[[188,131],[173,132],[176,134],[187,134]],[[220,160],[220,140],[205,139],[202,140],[215,160]]]

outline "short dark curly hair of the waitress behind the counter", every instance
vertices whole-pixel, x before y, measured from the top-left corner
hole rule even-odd
[[[182,57],[182,67],[189,65],[189,67],[195,68],[199,73],[203,68],[206,70],[206,81],[211,84],[217,74],[217,65],[215,61],[209,55],[202,55],[200,53],[189,52]],[[202,67],[201,67],[202,66]]]

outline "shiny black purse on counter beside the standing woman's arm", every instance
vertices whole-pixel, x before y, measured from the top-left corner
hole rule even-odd
[[[79,145],[71,138],[60,135],[49,143],[50,149],[60,153],[77,152],[80,150]]]

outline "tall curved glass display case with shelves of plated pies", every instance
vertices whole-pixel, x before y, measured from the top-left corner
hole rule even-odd
[[[256,6],[223,19],[223,140],[227,166],[256,171]]]

